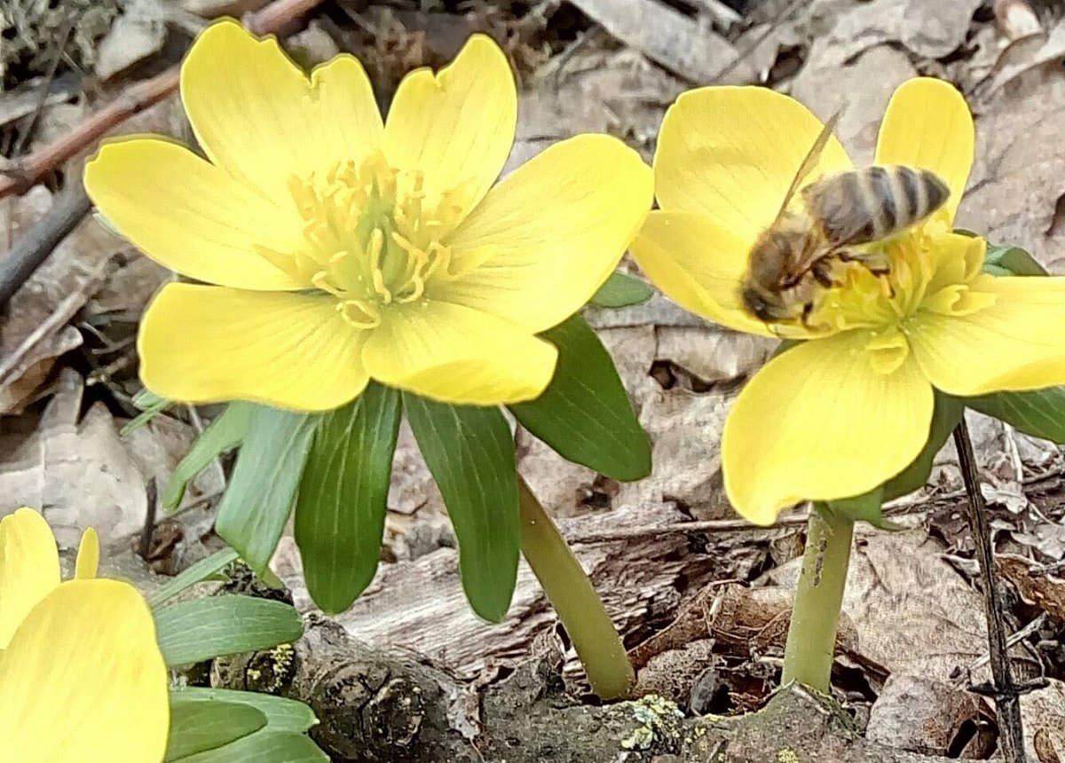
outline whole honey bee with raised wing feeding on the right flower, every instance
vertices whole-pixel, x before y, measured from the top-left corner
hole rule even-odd
[[[927,169],[872,166],[818,178],[799,190],[802,210],[788,209],[817,165],[837,117],[824,125],[780,212],[751,248],[740,297],[747,310],[767,324],[805,325],[819,289],[838,285],[833,280],[836,262],[857,262],[876,276],[887,276],[884,255],[862,247],[920,222],[950,196],[947,184]]]

